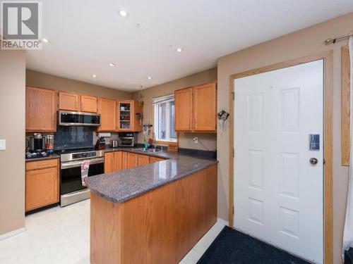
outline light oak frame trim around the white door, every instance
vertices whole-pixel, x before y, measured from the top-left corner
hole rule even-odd
[[[323,263],[333,263],[333,50],[229,76],[229,227],[234,227],[234,80],[323,60]]]

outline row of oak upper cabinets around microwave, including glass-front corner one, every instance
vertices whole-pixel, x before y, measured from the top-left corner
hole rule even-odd
[[[26,131],[56,131],[56,110],[100,113],[99,132],[142,132],[143,105],[133,100],[26,87]]]

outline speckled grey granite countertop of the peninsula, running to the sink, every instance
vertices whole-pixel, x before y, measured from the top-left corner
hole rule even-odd
[[[165,161],[95,175],[85,179],[93,193],[115,203],[126,201],[147,191],[161,187],[168,182],[179,180],[198,170],[203,170],[217,164],[217,161],[214,159],[194,158],[193,156],[167,151],[146,153],[138,151],[136,148],[104,149],[104,152],[109,151],[127,151],[158,158],[167,158]]]

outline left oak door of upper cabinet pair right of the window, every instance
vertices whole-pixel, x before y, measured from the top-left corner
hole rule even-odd
[[[193,128],[193,87],[174,93],[175,131],[191,131]]]

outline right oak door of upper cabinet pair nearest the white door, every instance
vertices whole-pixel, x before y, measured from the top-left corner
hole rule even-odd
[[[216,131],[215,82],[193,87],[193,130]]]

